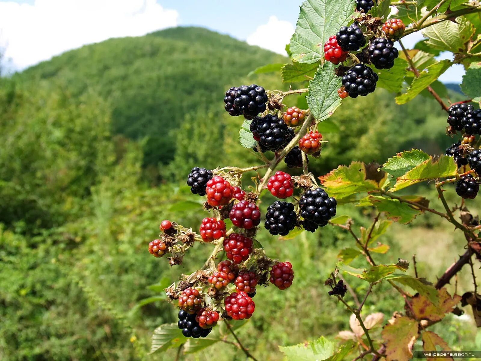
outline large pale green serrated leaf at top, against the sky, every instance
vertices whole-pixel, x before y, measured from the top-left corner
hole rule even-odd
[[[354,0],[307,0],[301,6],[289,50],[299,63],[324,61],[324,43],[354,14]]]

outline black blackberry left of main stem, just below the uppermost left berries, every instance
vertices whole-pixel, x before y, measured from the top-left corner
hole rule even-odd
[[[284,148],[294,138],[294,131],[278,116],[267,114],[257,123],[260,143],[271,151]]]

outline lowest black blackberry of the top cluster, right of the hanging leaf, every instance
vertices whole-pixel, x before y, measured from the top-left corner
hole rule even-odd
[[[342,85],[351,98],[366,96],[376,89],[378,75],[364,64],[357,64],[342,77]]]

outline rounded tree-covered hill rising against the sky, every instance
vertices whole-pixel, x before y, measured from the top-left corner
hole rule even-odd
[[[114,133],[148,136],[145,163],[172,160],[177,129],[186,114],[219,114],[226,86],[254,68],[285,58],[199,27],[109,39],[65,52],[26,69],[22,79],[65,79],[73,96],[98,93],[112,107]]]

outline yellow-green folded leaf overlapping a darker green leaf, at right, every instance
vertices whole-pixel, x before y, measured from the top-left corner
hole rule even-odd
[[[453,157],[441,155],[437,159],[430,158],[406,174],[397,177],[396,184],[389,192],[399,191],[413,184],[432,179],[446,178],[457,174],[457,165]]]

